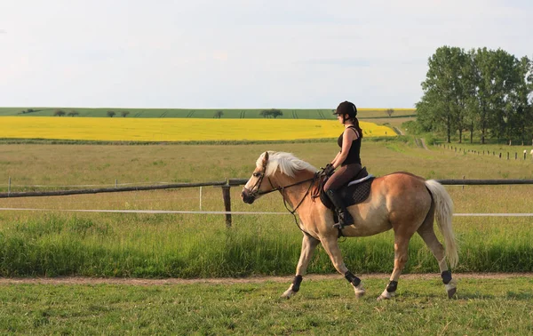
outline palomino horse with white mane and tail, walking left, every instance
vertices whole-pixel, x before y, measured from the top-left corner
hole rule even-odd
[[[296,268],[296,276],[282,297],[290,298],[299,290],[302,276],[311,260],[315,247],[322,243],[338,273],[353,284],[357,297],[364,294],[361,279],[354,276],[342,260],[338,248],[338,229],[333,228],[333,212],[313,197],[319,188],[316,168],[290,153],[265,152],[256,163],[251,179],[243,188],[243,201],[252,204],[259,196],[279,190],[283,202],[298,213],[300,228],[304,232],[302,251]],[[342,229],[343,236],[372,236],[394,229],[394,270],[390,283],[378,300],[394,296],[402,268],[407,262],[411,236],[418,232],[427,244],[441,268],[442,282],[451,298],[457,283],[451,278],[446,263],[457,264],[457,245],[451,228],[453,204],[446,189],[435,180],[424,180],[408,172],[394,172],[376,178],[370,188],[370,196],[362,203],[348,207],[354,217],[354,225]],[[442,247],[434,233],[436,219],[446,244]]]

